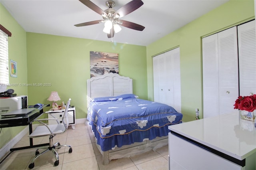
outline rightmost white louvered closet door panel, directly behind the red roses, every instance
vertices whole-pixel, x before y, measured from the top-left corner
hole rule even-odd
[[[240,95],[256,94],[255,21],[238,26]]]

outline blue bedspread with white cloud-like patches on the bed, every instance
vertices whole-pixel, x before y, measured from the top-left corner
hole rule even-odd
[[[90,102],[89,124],[102,151],[167,136],[168,126],[182,123],[174,108],[143,99]]]

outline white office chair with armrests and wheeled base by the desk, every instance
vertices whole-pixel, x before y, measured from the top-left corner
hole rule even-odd
[[[60,124],[58,122],[58,120],[53,116],[51,115],[50,113],[47,113],[48,115],[54,117],[54,119],[37,119],[35,121],[38,121],[40,123],[42,123],[44,126],[38,126],[36,127],[36,129],[29,135],[30,138],[36,138],[36,137],[41,137],[41,136],[49,136],[49,146],[43,146],[43,147],[40,147],[36,150],[36,156],[33,158],[31,164],[28,166],[28,168],[32,169],[34,168],[34,161],[36,160],[36,158],[38,158],[39,156],[41,156],[42,154],[48,152],[48,151],[52,151],[52,153],[54,154],[55,156],[55,159],[56,161],[54,162],[54,165],[55,166],[58,166],[59,164],[59,156],[58,156],[58,153],[56,152],[56,148],[61,148],[63,146],[67,146],[69,147],[69,150],[68,150],[68,153],[72,153],[72,147],[70,145],[60,145],[59,142],[56,142],[53,144],[53,137],[56,135],[56,134],[62,134],[64,133],[67,129],[68,129],[68,108],[69,108],[69,105],[70,105],[70,100],[68,100],[67,104],[66,104],[66,109],[64,111],[64,115],[62,117],[62,123],[63,124]],[[48,116],[49,117],[49,116]],[[49,120],[56,120],[58,124],[56,125],[46,125],[46,123],[42,122],[42,121],[49,121]],[[44,150],[42,153],[39,153],[38,150],[39,149],[46,149]]]

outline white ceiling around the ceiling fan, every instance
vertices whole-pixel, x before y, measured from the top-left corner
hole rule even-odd
[[[91,0],[106,10],[106,0]],[[114,0],[118,10],[131,0]],[[206,14],[228,0],[142,0],[144,4],[122,17],[145,27],[141,31],[122,27],[113,41],[134,45],[149,45]],[[101,20],[79,0],[0,0],[26,32],[86,38],[110,42],[104,33],[104,24],[76,27],[75,24]]]

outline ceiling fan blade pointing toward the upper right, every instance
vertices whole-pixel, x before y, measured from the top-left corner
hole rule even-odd
[[[130,14],[131,12],[135,11],[136,9],[140,8],[144,3],[141,0],[132,0],[122,6],[119,10],[117,10],[114,13],[114,16],[116,14],[119,14],[119,18],[126,16],[127,14]]]

